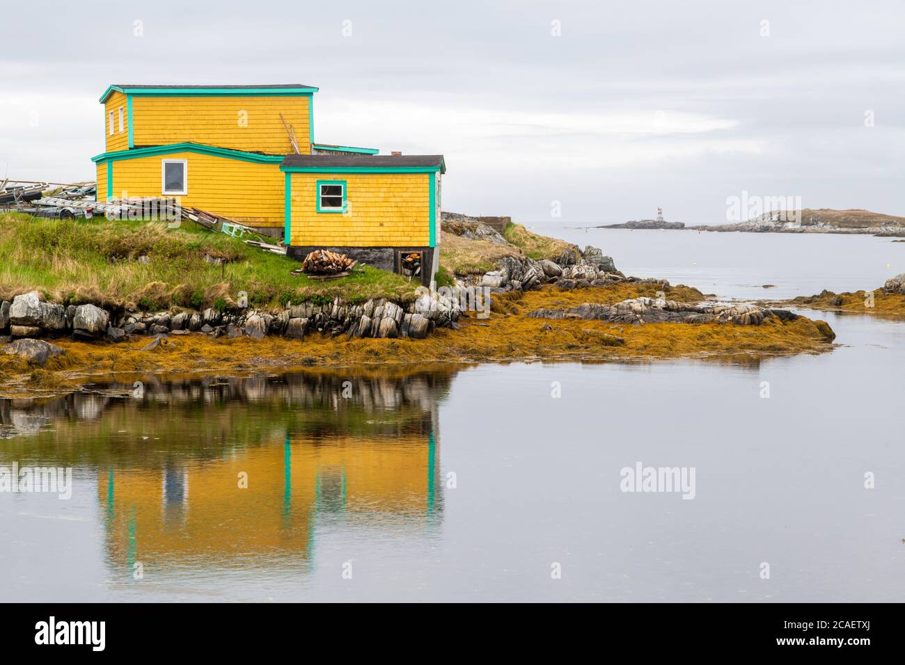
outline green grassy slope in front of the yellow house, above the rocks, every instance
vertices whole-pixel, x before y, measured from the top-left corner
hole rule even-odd
[[[216,259],[224,262],[217,265]],[[277,309],[335,297],[352,304],[409,300],[418,286],[369,266],[338,280],[311,280],[291,274],[300,265],[189,222],[167,229],[158,222],[0,214],[0,299],[38,290],[65,304],[228,309],[244,291],[252,306]]]

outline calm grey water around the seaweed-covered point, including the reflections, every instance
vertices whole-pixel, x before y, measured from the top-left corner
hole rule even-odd
[[[864,266],[905,252],[600,233],[623,270],[723,296],[869,287],[894,270]],[[841,345],[821,356],[130,376],[2,401],[0,465],[74,468],[69,500],[0,494],[3,598],[901,601],[905,322],[820,316]],[[637,462],[693,468],[694,499],[621,491]]]

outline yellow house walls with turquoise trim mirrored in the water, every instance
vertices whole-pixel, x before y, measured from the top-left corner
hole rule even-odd
[[[111,556],[122,562],[201,556],[228,563],[242,556],[308,556],[312,513],[427,514],[433,450],[427,435],[392,442],[330,438],[289,446],[272,442],[228,460],[186,461],[186,499],[165,504],[164,471],[100,472],[98,499],[108,508]],[[248,489],[239,489],[239,473]],[[290,480],[287,489],[287,475]],[[320,495],[318,495],[318,489]],[[339,504],[339,505],[338,505]]]

